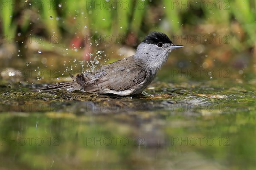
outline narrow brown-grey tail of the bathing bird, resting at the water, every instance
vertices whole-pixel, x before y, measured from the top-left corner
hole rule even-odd
[[[42,88],[38,88],[35,91],[38,92],[47,92],[47,91],[55,91],[55,90],[66,90],[66,91],[75,91],[80,90],[82,87],[73,80],[72,82],[58,82],[56,84],[47,85]]]

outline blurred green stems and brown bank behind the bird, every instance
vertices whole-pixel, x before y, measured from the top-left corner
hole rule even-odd
[[[79,73],[81,65],[132,55],[145,35],[162,31],[185,46],[166,67],[228,69],[243,78],[256,70],[255,16],[254,0],[4,0],[1,67],[50,67],[68,76],[66,69]],[[70,68],[73,59],[81,65]]]

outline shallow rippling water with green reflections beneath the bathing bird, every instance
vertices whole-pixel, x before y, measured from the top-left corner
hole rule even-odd
[[[255,79],[161,75],[145,95],[127,97],[36,93],[2,80],[1,167],[253,169]]]

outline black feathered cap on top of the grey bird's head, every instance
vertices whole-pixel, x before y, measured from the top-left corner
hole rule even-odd
[[[169,37],[166,34],[162,32],[157,32],[157,31],[153,31],[149,35],[147,35],[143,40],[143,42],[147,44],[156,44],[156,45],[158,42],[163,42],[164,44],[165,43],[172,44],[172,41],[169,39]]]

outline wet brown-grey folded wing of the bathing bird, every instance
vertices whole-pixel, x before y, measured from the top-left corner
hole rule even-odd
[[[146,76],[146,71],[131,56],[105,65],[87,75],[79,74],[76,81],[84,87],[84,91],[126,91],[144,82]]]

